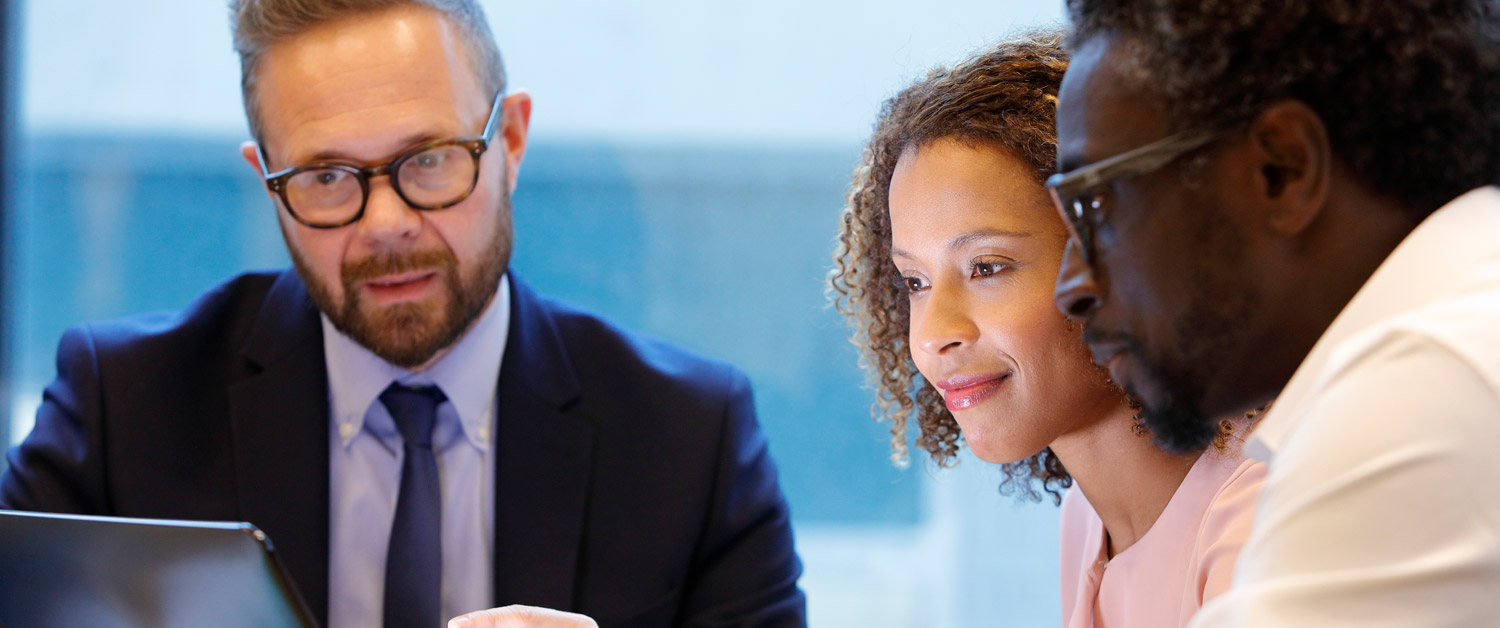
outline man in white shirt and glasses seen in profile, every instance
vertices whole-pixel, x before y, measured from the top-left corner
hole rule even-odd
[[[1500,19],[1070,0],[1058,306],[1168,448],[1275,399],[1220,627],[1500,627]]]

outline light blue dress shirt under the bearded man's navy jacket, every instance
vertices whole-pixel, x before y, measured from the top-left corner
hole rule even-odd
[[[378,397],[392,382],[436,385],[432,432],[442,486],[442,618],[495,604],[495,390],[510,330],[510,282],[429,369],[381,360],[322,318],[328,367],[328,628],[381,625],[386,550],[400,487],[402,439]]]

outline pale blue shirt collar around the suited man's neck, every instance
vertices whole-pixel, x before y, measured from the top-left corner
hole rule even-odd
[[[350,447],[364,429],[364,415],[392,382],[436,385],[448,397],[464,427],[464,436],[488,450],[495,414],[500,364],[510,333],[510,277],[500,277],[500,288],[484,313],[474,321],[458,343],[429,369],[412,373],[372,354],[322,322],[322,355],[328,369],[328,409],[340,447]]]

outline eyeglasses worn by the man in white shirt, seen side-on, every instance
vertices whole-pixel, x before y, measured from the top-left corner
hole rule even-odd
[[[1047,177],[1047,193],[1062,216],[1068,235],[1078,243],[1078,255],[1083,256],[1083,262],[1094,267],[1094,229],[1098,223],[1094,213],[1100,210],[1100,204],[1092,192],[1108,183],[1155,172],[1239,127],[1240,124],[1188,129],[1113,157]]]

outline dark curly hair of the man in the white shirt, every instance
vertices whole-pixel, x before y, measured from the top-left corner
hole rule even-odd
[[[1306,103],[1335,159],[1413,219],[1500,178],[1492,0],[1068,0],[1068,13],[1070,48],[1122,37],[1178,129]]]

